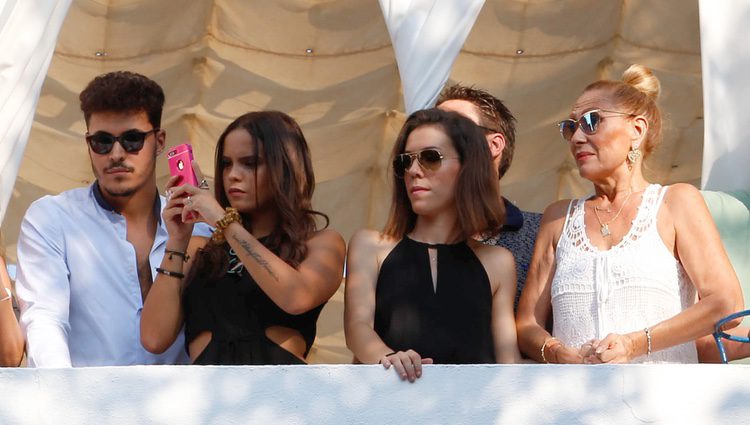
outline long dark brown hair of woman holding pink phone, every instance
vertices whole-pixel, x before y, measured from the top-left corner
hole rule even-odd
[[[328,227],[328,216],[312,209],[315,175],[305,136],[292,117],[278,111],[250,112],[229,124],[216,144],[214,162],[214,193],[219,205],[224,208],[230,206],[224,192],[224,142],[227,135],[237,129],[247,131],[255,140],[256,156],[260,151],[259,146],[263,146],[268,170],[268,188],[265,190],[273,193],[271,202],[279,217],[271,234],[263,239],[263,244],[282,260],[297,267],[307,255],[307,240],[318,230],[315,216],[324,219],[323,228]],[[257,178],[255,182],[257,197]],[[249,223],[247,217],[243,218],[245,223]],[[216,277],[226,272],[227,265],[223,244],[209,243],[199,250],[193,269],[204,276]]]

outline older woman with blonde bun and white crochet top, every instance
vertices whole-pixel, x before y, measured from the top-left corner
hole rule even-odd
[[[519,345],[539,362],[695,363],[695,340],[742,310],[698,190],[643,176],[661,139],[660,90],[632,65],[622,81],[586,87],[560,122],[594,195],[555,202],[542,219],[517,316]]]

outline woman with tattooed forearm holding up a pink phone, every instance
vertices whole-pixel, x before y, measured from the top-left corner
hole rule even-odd
[[[305,137],[284,113],[245,114],[219,138],[215,170],[215,198],[175,187],[174,177],[167,184],[169,239],[141,342],[162,352],[184,324],[195,364],[304,363],[345,254],[341,236],[316,224],[320,216],[327,227],[328,217],[311,206]],[[197,221],[216,229],[210,240],[191,238]]]

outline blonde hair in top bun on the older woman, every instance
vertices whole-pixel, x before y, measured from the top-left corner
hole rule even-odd
[[[639,148],[643,157],[648,157],[661,143],[661,110],[656,105],[661,84],[654,73],[643,65],[633,64],[623,72],[622,81],[599,80],[589,84],[584,93],[590,90],[608,91],[619,111],[646,117],[648,132]]]

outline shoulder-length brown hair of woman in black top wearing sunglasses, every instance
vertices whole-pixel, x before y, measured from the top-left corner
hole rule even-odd
[[[409,135],[419,127],[435,126],[445,133],[458,152],[461,169],[456,177],[456,210],[464,238],[497,231],[503,224],[505,207],[500,199],[497,172],[484,133],[471,120],[455,112],[425,109],[407,118],[391,152],[391,163],[404,153]],[[393,197],[383,233],[400,239],[417,221],[403,178],[393,173]]]

